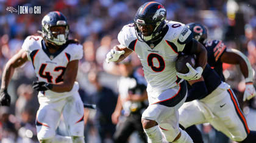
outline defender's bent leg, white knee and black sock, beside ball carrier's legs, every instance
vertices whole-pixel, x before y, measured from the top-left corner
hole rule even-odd
[[[179,108],[180,128],[184,128],[194,142],[203,142],[201,132],[195,126],[206,122],[204,114],[198,107],[197,101],[186,102]]]

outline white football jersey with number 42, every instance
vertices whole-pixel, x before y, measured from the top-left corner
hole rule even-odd
[[[58,84],[63,81],[63,75],[69,61],[79,60],[84,52],[82,45],[69,44],[63,50],[51,54],[46,50],[45,42],[41,36],[28,36],[22,48],[26,50],[27,58],[32,62],[38,81]],[[79,84],[74,83],[73,89],[69,92],[57,93],[46,90],[38,94],[43,101],[57,101],[60,98],[72,96],[79,89]]]

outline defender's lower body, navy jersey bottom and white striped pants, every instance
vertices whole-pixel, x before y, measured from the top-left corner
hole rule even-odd
[[[183,128],[209,122],[233,141],[249,143],[256,141],[256,131],[250,131],[243,111],[230,85],[222,82],[218,73],[206,65],[202,77],[188,81],[188,98],[179,109]],[[197,99],[197,100],[195,100]],[[194,142],[202,142],[197,128],[188,131]],[[193,132],[192,132],[193,131]]]

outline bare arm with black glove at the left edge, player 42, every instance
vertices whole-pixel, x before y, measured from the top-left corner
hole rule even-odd
[[[4,67],[4,71],[2,73],[2,83],[0,90],[0,105],[10,106],[10,95],[7,93],[7,88],[10,83],[10,79],[12,79],[15,68],[20,67],[27,61],[27,53],[24,49],[21,49],[18,53],[16,53]]]

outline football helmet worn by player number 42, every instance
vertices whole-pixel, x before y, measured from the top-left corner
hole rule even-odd
[[[49,12],[45,15],[41,21],[42,32],[40,32],[46,40],[56,44],[56,45],[63,45],[68,40],[69,34],[69,25],[66,21],[66,17],[58,11]],[[54,26],[65,26],[65,34],[60,33],[57,35],[57,38],[54,37],[54,33],[58,34],[57,32],[52,32],[51,27]]]

